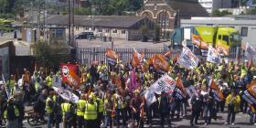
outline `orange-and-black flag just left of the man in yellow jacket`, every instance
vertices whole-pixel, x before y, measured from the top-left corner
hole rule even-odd
[[[213,96],[213,98],[216,101],[222,101],[224,99],[222,91],[220,91],[218,85],[214,80],[211,80],[209,88],[210,88],[210,94]]]

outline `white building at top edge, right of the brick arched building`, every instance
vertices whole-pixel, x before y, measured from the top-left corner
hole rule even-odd
[[[232,6],[232,0],[198,0],[198,2],[206,8],[208,14],[219,8],[229,8]]]

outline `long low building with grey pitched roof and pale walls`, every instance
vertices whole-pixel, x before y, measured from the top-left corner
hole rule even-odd
[[[93,32],[96,37],[111,37],[113,39],[140,40],[142,27],[147,29],[147,37],[155,37],[154,22],[144,16],[74,16],[74,35],[81,32]],[[47,17],[46,35],[49,42],[67,41],[69,37],[69,16],[53,15]],[[31,23],[22,28],[22,38],[25,41],[35,42],[35,32]],[[150,38],[150,39],[151,39]]]

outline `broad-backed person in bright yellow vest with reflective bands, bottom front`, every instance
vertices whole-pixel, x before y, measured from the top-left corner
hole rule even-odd
[[[97,102],[91,96],[85,103],[84,121],[86,128],[97,128]]]

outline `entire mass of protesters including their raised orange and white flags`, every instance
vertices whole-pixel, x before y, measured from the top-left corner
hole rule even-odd
[[[228,115],[225,124],[234,125],[236,114],[246,111],[256,124],[251,101],[256,100],[256,69],[247,62],[198,58],[189,48],[174,59],[155,55],[146,60],[134,50],[131,62],[124,63],[112,49],[106,57],[107,63],[35,69],[31,77],[24,69],[21,78],[0,81],[0,119],[6,118],[6,127],[22,127],[27,105],[33,105],[41,121],[47,116],[48,128],[60,123],[65,128],[144,127],[155,118],[160,127],[172,127],[175,118],[188,118],[191,126],[201,119],[210,125],[218,112]]]

